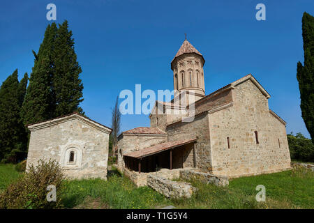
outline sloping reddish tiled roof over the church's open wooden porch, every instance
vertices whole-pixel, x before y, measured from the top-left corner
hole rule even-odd
[[[196,139],[183,139],[183,140],[178,140],[178,141],[167,141],[163,144],[157,144],[155,146],[151,146],[148,148],[143,148],[139,151],[133,151],[130,153],[124,154],[124,156],[128,157],[135,157],[135,158],[142,158],[146,157],[148,155],[154,155],[156,153],[160,153],[162,151],[166,151],[170,148],[175,148],[178,146],[183,146],[186,144],[190,144],[191,142],[196,141]]]

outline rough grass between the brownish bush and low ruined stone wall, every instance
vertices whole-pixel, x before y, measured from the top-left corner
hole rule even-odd
[[[126,177],[113,174],[107,181],[68,180],[63,204],[66,208],[73,208],[82,203],[87,197],[100,198],[110,208],[156,208],[165,201],[149,187],[135,187]]]

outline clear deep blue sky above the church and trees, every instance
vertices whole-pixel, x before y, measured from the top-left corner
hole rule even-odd
[[[6,1],[0,7],[0,83],[16,68],[30,74],[47,24],[46,6],[57,6],[57,23],[68,20],[84,84],[82,108],[111,125],[123,89],[173,89],[170,62],[188,40],[204,56],[209,94],[252,73],[270,94],[269,108],[287,132],[309,137],[299,108],[297,62],[304,61],[301,17],[314,1]],[[255,19],[264,3],[266,21]],[[121,130],[149,126],[146,115],[124,115]]]

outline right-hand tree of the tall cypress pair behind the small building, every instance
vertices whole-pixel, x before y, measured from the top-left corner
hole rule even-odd
[[[52,86],[55,97],[54,116],[62,116],[72,112],[83,113],[79,106],[83,100],[83,85],[79,77],[82,69],[77,62],[72,31],[68,30],[68,21],[59,25],[54,41],[52,61]]]

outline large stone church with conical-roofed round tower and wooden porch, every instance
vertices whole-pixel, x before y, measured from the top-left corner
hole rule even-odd
[[[176,169],[227,178],[290,169],[286,123],[269,109],[269,93],[249,74],[205,95],[204,63],[184,40],[171,62],[173,100],[156,101],[150,128],[119,135],[118,167],[137,185],[160,169],[166,178]]]

